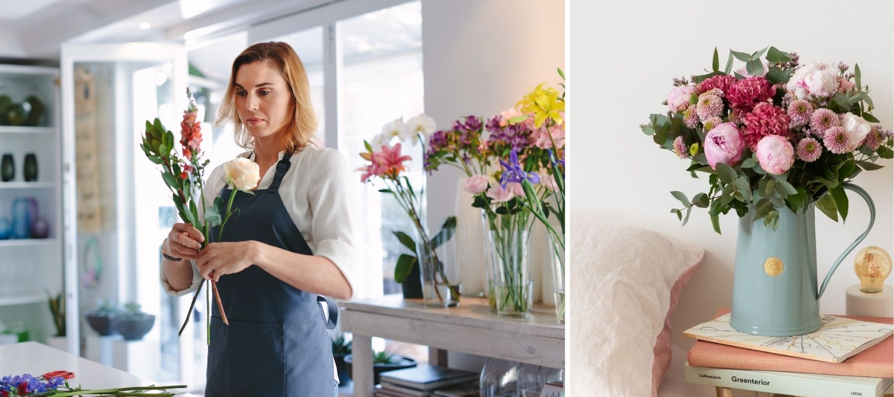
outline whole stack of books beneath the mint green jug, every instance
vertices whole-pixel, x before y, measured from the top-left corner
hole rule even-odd
[[[688,329],[696,338],[686,380],[730,389],[811,396],[888,395],[894,378],[890,317],[824,316],[813,334],[766,337],[730,326],[729,309]]]

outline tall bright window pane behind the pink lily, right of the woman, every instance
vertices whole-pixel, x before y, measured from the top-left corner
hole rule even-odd
[[[339,148],[348,157],[350,169],[364,160],[364,139],[382,131],[385,122],[423,113],[422,16],[419,2],[401,4],[339,22],[342,45],[342,75],[339,81]],[[422,149],[404,144],[403,153],[412,156],[408,177],[413,186],[423,188]],[[359,181],[359,173],[357,174]],[[368,272],[360,280],[358,297],[399,292],[394,283],[394,264],[405,251],[392,234],[413,235],[409,217],[380,186],[355,186],[361,244],[361,258],[368,258]],[[424,196],[423,196],[424,197]],[[382,284],[377,281],[382,280]]]

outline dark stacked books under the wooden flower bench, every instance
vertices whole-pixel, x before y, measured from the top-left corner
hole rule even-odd
[[[478,374],[438,366],[383,372],[375,397],[466,397],[478,395]]]

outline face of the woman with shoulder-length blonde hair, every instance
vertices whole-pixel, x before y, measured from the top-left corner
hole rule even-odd
[[[241,65],[235,92],[240,122],[256,141],[282,131],[295,114],[288,83],[266,61]]]

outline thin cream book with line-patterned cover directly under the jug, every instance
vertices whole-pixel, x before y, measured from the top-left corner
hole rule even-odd
[[[894,326],[890,324],[847,317],[825,315],[821,322],[822,326],[813,334],[757,336],[733,329],[730,326],[730,315],[726,314],[689,328],[683,336],[801,359],[839,363],[881,342],[894,332]]]

